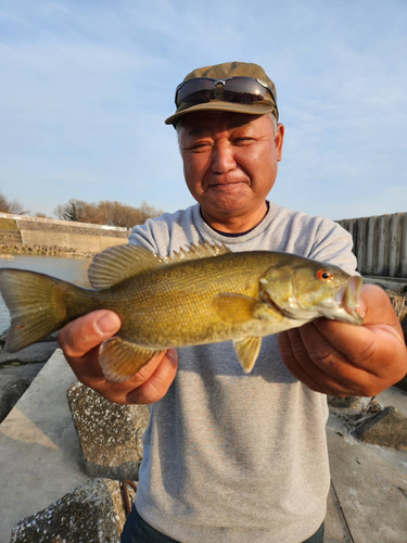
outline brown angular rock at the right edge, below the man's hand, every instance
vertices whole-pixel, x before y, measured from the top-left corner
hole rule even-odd
[[[385,407],[355,429],[365,443],[407,451],[407,418],[395,407]]]

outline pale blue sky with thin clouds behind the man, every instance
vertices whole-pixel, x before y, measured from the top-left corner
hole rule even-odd
[[[285,140],[269,199],[331,219],[407,212],[405,0],[0,0],[0,191],[56,205],[194,201],[176,86],[260,64]]]

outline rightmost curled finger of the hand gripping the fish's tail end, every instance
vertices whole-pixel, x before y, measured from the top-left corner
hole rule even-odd
[[[169,349],[151,377],[127,394],[127,403],[151,404],[161,400],[173,383],[177,368],[177,351]]]

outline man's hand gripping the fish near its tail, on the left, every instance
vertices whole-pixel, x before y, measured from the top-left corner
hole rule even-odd
[[[118,404],[151,404],[161,400],[175,379],[178,356],[175,349],[153,356],[140,371],[124,382],[109,381],[98,362],[100,343],[120,328],[115,313],[96,311],[65,326],[59,334],[74,374],[84,384]]]

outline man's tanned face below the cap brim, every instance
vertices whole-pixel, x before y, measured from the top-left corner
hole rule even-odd
[[[284,127],[275,138],[269,115],[191,113],[178,127],[183,173],[204,218],[251,217],[265,209],[277,163],[281,160]]]

